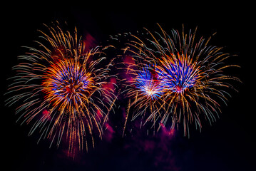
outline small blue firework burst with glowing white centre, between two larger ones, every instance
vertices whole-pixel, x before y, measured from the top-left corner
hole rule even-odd
[[[158,106],[160,97],[163,95],[163,86],[155,76],[153,68],[144,66],[144,63],[137,64],[136,69],[129,69],[132,76],[127,82],[127,95],[130,99],[129,106],[134,106],[133,120],[139,115],[145,118],[146,113],[151,113],[147,120],[155,121],[156,113],[159,114]]]

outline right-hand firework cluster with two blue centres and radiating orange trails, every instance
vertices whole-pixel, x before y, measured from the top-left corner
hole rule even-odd
[[[224,72],[239,67],[226,63],[231,55],[208,45],[211,37],[197,41],[196,29],[185,34],[183,28],[181,35],[176,30],[168,35],[161,27],[160,33],[145,31],[142,38],[132,35],[124,48],[133,58],[133,63],[124,62],[130,75],[124,83],[131,99],[128,108],[135,111],[132,120],[142,115],[145,123],[158,123],[158,130],[166,123],[171,129],[182,125],[185,135],[192,123],[202,128],[201,118],[215,121],[220,102],[226,104],[228,90],[235,90],[232,81],[239,81]]]

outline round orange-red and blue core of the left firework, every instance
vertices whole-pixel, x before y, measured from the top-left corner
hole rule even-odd
[[[72,103],[76,106],[87,99],[92,83],[91,73],[86,73],[86,69],[78,61],[63,60],[48,69],[42,85],[47,94],[46,100],[56,105]]]

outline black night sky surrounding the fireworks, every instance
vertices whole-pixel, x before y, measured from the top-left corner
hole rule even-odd
[[[203,2],[203,1],[202,1]],[[1,148],[6,170],[255,170],[255,12],[252,4],[240,1],[207,4],[173,1],[99,1],[60,4],[46,1],[1,5]],[[108,35],[135,32],[143,27],[165,31],[194,29],[198,36],[213,37],[211,44],[225,46],[225,52],[237,54],[232,61],[239,93],[232,92],[228,106],[223,105],[220,119],[205,124],[202,133],[190,138],[177,133],[172,138],[136,134],[133,138],[114,137],[98,142],[95,149],[66,157],[61,147],[48,148],[36,135],[27,136],[29,125],[16,124],[14,108],[4,107],[6,78],[16,56],[25,52],[21,46],[34,46],[42,24],[67,21],[81,33],[90,33],[98,43]],[[118,113],[116,113],[118,115]],[[118,129],[118,128],[116,128]],[[145,146],[149,145],[150,146]]]

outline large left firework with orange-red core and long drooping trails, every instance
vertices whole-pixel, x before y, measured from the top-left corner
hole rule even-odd
[[[29,53],[19,56],[22,63],[14,67],[6,104],[21,104],[16,109],[19,120],[34,123],[29,135],[38,130],[39,140],[48,138],[57,146],[66,137],[70,152],[76,144],[83,149],[84,142],[88,150],[87,136],[94,147],[93,135],[102,137],[115,101],[106,86],[112,64],[102,57],[101,47],[86,50],[76,28],[63,31],[56,22],[46,29],[40,31],[42,41],[36,41],[39,48],[27,47]]]

